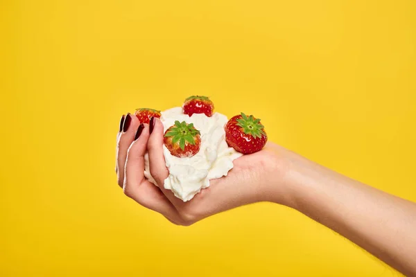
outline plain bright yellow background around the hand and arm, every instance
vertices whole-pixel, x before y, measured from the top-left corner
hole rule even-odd
[[[277,204],[174,226],[114,175],[121,114],[192,94],[416,201],[416,2],[0,1],[0,276],[397,276]]]

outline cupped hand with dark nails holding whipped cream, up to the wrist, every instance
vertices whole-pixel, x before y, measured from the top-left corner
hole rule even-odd
[[[168,177],[163,155],[162,123],[155,118],[152,134],[148,125],[134,141],[139,120],[131,116],[126,132],[119,134],[117,143],[117,172],[119,186],[125,195],[137,203],[157,211],[175,224],[188,226],[205,217],[227,211],[245,204],[270,201],[271,190],[279,190],[276,180],[283,179],[279,148],[268,143],[260,152],[244,155],[234,160],[234,168],[226,177],[212,179],[209,188],[204,188],[189,202],[182,202],[171,190],[163,186]],[[144,155],[148,151],[150,174],[157,186],[144,177]],[[283,176],[281,176],[283,177]],[[273,186],[275,185],[275,186]],[[277,193],[277,195],[283,195]]]

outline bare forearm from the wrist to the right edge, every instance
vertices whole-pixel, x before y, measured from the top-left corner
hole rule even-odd
[[[416,276],[416,204],[287,155],[286,204]]]

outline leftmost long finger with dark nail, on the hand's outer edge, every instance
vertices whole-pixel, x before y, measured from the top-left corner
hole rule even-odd
[[[124,181],[124,166],[127,150],[135,139],[137,127],[139,127],[139,119],[134,115],[127,114],[117,142],[117,182],[121,187],[123,187]]]

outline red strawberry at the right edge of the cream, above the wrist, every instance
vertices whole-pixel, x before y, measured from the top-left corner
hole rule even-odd
[[[225,125],[225,140],[236,151],[251,154],[260,151],[267,142],[267,134],[259,118],[234,116]]]

